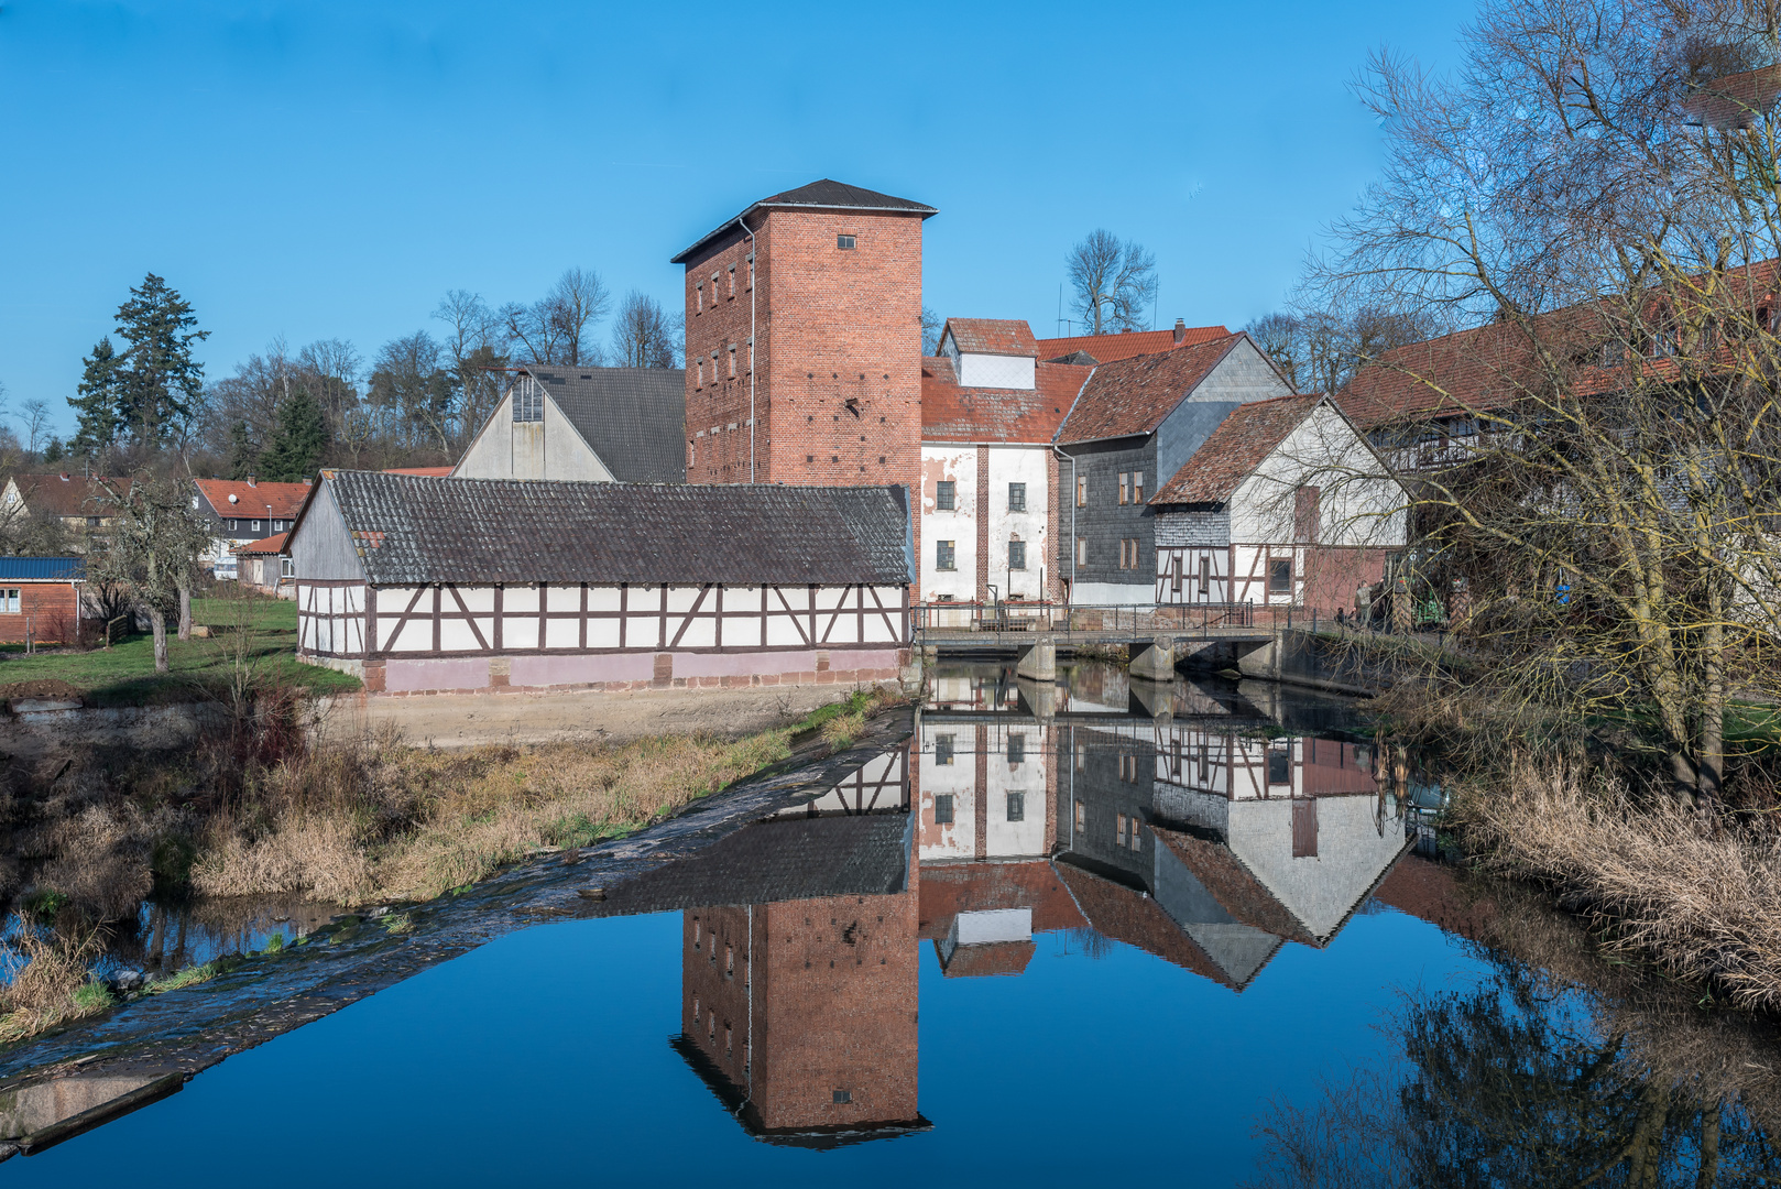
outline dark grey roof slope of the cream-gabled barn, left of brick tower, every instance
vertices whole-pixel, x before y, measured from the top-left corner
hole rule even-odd
[[[525,367],[620,483],[686,483],[686,371]]]

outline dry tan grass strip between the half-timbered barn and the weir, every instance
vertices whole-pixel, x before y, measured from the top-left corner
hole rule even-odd
[[[817,726],[830,749],[887,701],[858,693],[741,740],[661,736],[458,752],[397,736],[324,745],[249,781],[192,865],[203,895],[306,893],[342,904],[427,900],[547,849],[625,834],[791,754]]]

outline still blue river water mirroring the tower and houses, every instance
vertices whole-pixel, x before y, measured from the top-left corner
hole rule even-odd
[[[1772,1037],[1439,863],[1439,786],[1359,727],[1265,685],[944,670],[908,743],[600,916],[420,970],[0,1180],[1774,1177],[1749,1071]],[[305,922],[255,911],[255,936]]]

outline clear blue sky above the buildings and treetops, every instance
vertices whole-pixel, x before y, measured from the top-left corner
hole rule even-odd
[[[1156,251],[1159,324],[1275,307],[1378,166],[1346,89],[1452,62],[1464,0],[0,7],[0,383],[57,428],[146,271],[212,330],[370,357],[447,289],[566,266],[673,308],[668,257],[819,176],[917,198],[926,301],[1053,333],[1063,253]],[[604,337],[604,332],[602,332]]]

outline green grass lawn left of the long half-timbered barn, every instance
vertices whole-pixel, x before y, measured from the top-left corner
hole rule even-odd
[[[192,620],[226,627],[249,620],[249,663],[267,679],[297,685],[317,693],[360,688],[358,677],[333,668],[305,665],[296,658],[297,608],[283,599],[194,599]],[[155,706],[191,702],[226,688],[233,665],[232,633],[210,640],[180,642],[167,626],[169,672],[155,672],[155,642],[148,633],[128,636],[110,651],[52,652],[25,656],[0,651],[0,688],[21,681],[66,681],[89,706]]]

